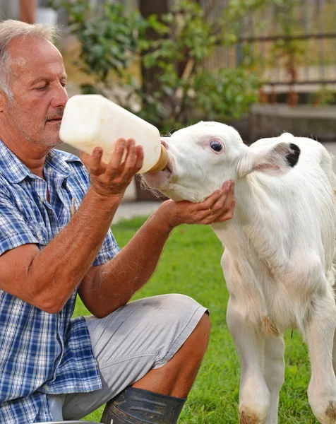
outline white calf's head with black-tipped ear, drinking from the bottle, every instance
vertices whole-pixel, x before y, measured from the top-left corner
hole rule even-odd
[[[199,122],[164,137],[167,167],[143,174],[145,182],[174,200],[203,201],[227,179],[244,178],[253,171],[281,175],[299,160],[292,134],[267,146],[248,148],[239,133],[219,122]]]

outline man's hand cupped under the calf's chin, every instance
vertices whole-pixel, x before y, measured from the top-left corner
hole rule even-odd
[[[213,224],[231,219],[234,214],[234,181],[226,181],[222,190],[216,190],[201,203],[165,201],[160,208],[171,228],[180,224]]]

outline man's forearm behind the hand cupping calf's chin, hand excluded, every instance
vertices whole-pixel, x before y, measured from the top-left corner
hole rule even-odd
[[[171,231],[156,211],[114,259],[97,267],[92,281],[85,277],[80,297],[90,312],[104,317],[125,305],[152,276]]]

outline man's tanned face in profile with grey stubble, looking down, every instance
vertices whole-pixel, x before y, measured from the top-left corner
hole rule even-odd
[[[16,38],[11,56],[11,91],[6,126],[10,134],[42,146],[61,143],[59,128],[68,101],[63,58],[47,40]]]

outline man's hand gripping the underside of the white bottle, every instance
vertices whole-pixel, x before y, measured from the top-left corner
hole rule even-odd
[[[121,163],[126,149],[126,158]],[[133,175],[143,166],[143,148],[133,139],[119,139],[114,146],[111,160],[102,163],[102,148],[96,147],[92,155],[80,153],[91,177],[91,187],[100,196],[123,196]]]

